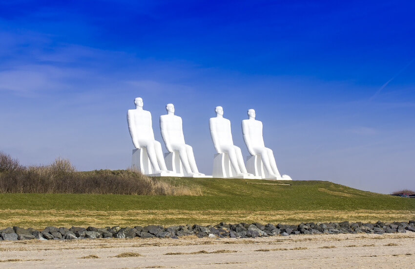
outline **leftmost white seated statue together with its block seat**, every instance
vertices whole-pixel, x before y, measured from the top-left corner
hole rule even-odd
[[[131,139],[136,148],[133,150],[132,169],[149,176],[171,176],[163,158],[162,146],[154,139],[151,113],[143,110],[143,99],[134,99],[136,109],[128,110],[127,121]]]

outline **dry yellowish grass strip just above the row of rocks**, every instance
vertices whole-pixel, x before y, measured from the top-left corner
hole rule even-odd
[[[355,210],[353,212],[337,210],[274,210],[248,211],[238,210],[229,214],[226,210],[125,210],[125,211],[95,211],[95,210],[26,210],[0,209],[0,228],[7,226],[33,227],[37,229],[45,226],[71,227],[72,225],[86,225],[95,227],[105,226],[135,226],[135,225],[180,225],[197,223],[200,225],[220,222],[258,222],[258,223],[287,223],[298,224],[308,221],[407,221],[414,218],[414,211],[385,211],[385,210]]]

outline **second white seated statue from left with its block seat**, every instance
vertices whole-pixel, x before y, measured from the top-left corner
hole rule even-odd
[[[174,115],[173,104],[167,104],[166,111],[166,115],[160,116],[160,131],[168,151],[165,154],[167,168],[186,177],[206,177],[199,173],[193,149],[185,143],[182,118]]]

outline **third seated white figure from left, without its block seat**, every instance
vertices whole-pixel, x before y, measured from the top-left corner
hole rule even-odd
[[[231,168],[235,172],[220,173],[222,177],[252,177],[252,174],[248,174],[245,168],[244,158],[242,157],[241,149],[233,145],[232,133],[230,131],[230,121],[223,117],[223,108],[215,108],[216,117],[209,119],[210,136],[212,137],[213,145],[216,152],[219,154],[228,154],[228,158],[231,164]],[[217,156],[215,156],[216,158]],[[215,162],[215,160],[214,160]],[[215,163],[213,167],[213,177],[221,177],[216,174]],[[224,174],[227,174],[225,176]]]

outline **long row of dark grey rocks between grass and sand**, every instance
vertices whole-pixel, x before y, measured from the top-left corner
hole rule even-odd
[[[53,227],[43,230],[34,228],[7,227],[0,230],[1,240],[76,240],[97,238],[179,238],[181,236],[196,235],[199,238],[255,238],[263,236],[289,236],[298,234],[339,234],[339,233],[406,233],[415,232],[415,221],[384,223],[302,223],[290,224],[259,224],[238,223],[217,225],[177,225],[163,227],[160,225],[134,227]]]

